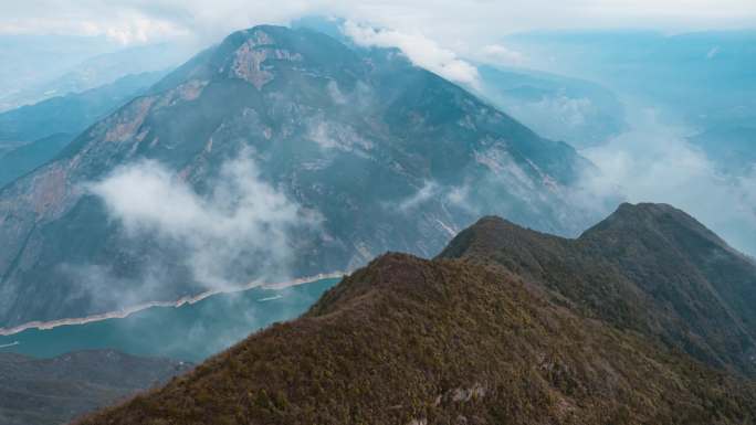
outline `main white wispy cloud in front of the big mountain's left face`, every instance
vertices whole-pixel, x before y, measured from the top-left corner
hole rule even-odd
[[[222,167],[208,196],[155,161],[118,168],[87,189],[129,234],[178,243],[195,279],[208,289],[244,284],[228,278],[242,256],[264,258],[255,277],[285,274],[292,255],[288,231],[316,224],[260,180],[249,153]]]

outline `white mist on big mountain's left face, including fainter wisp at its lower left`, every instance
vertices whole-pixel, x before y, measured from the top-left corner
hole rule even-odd
[[[199,194],[160,162],[122,166],[85,185],[105,204],[127,238],[170,247],[175,256],[147,258],[137,278],[124,281],[98,265],[69,266],[88,296],[101,305],[134,305],[170,279],[176,257],[203,290],[228,290],[249,281],[288,278],[295,229],[318,226],[302,209],[261,180],[249,150],[222,164],[208,193]],[[241,276],[241,277],[240,277]],[[111,283],[112,285],[107,285]]]

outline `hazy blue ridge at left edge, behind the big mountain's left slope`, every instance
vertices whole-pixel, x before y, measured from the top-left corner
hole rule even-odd
[[[0,114],[0,187],[53,159],[77,134],[144,94],[165,73],[128,75],[90,91]]]

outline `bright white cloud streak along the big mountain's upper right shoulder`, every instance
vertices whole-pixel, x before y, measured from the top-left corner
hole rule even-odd
[[[433,40],[421,34],[402,33],[396,30],[375,29],[370,25],[347,21],[344,33],[363,46],[398,47],[413,64],[434,72],[442,77],[479,87],[477,68],[459,59],[454,52],[441,47]]]

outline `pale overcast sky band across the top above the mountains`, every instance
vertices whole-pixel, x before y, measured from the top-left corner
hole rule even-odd
[[[333,14],[454,47],[527,30],[642,28],[665,32],[754,26],[754,0],[0,0],[0,34],[101,35],[125,44],[210,43],[258,23]],[[464,46],[462,46],[464,50]]]

